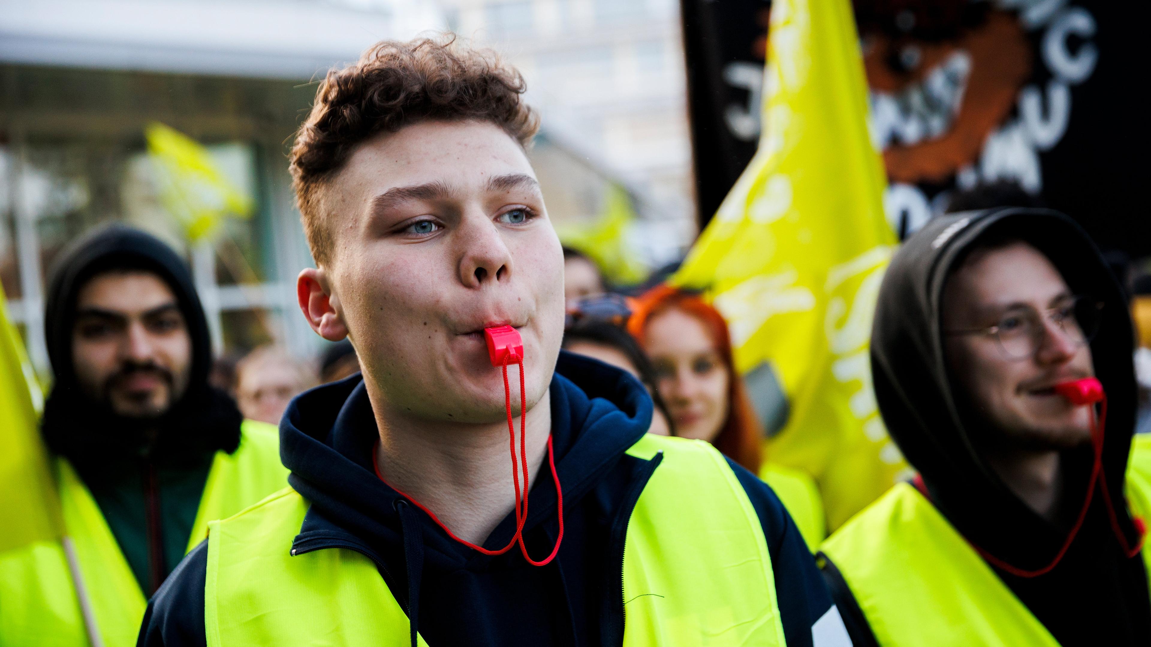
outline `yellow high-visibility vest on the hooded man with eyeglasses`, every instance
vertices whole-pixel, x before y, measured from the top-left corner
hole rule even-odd
[[[1131,512],[1151,511],[1151,437],[1136,436],[1127,470]],[[1059,647],[974,548],[907,484],[823,543],[885,647]],[[1149,550],[1143,550],[1148,566]]]

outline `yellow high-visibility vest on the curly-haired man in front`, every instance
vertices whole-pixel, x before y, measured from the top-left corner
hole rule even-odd
[[[747,493],[702,441],[647,435],[627,454],[660,451],[624,542],[624,645],[782,647],[771,558]],[[289,554],[307,508],[288,488],[208,524],[207,645],[409,644],[407,616],[368,557]]]

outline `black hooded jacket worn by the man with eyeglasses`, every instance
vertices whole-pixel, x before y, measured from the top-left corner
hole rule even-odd
[[[1058,554],[1082,508],[1092,455],[1089,447],[1062,455],[1057,523],[1034,512],[981,458],[986,424],[947,367],[940,299],[952,271],[988,237],[1028,242],[1052,261],[1073,294],[1105,304],[1091,353],[1108,398],[1105,478],[1111,493],[1123,492],[1136,411],[1131,322],[1098,250],[1062,214],[1036,208],[966,212],[937,218],[912,236],[892,259],[879,291],[872,378],[884,423],[937,509],[983,550],[1017,569],[1037,570]],[[1060,645],[1146,645],[1151,637],[1143,560],[1123,555],[1104,505],[1097,492],[1082,531],[1046,574],[1023,578],[994,569]],[[1134,546],[1138,531],[1127,507],[1116,507],[1120,527]],[[834,565],[824,572],[832,576],[829,584],[840,609],[855,615],[848,625],[859,626],[857,607],[834,577]]]

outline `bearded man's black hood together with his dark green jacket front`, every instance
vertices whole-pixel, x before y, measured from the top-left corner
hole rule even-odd
[[[85,396],[76,380],[78,294],[98,274],[125,269],[151,272],[168,286],[192,342],[188,389],[155,420],[116,416]],[[101,228],[53,267],[44,328],[54,376],[44,440],[76,467],[140,587],[153,592],[184,555],[213,455],[236,450],[243,421],[231,398],[208,386],[212,343],[192,276],[155,237],[123,226]]]

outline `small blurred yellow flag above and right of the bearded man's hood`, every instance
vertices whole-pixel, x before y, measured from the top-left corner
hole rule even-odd
[[[160,199],[196,243],[212,236],[226,215],[249,218],[252,199],[220,170],[198,142],[162,123],[145,131],[148,155],[160,176]]]

